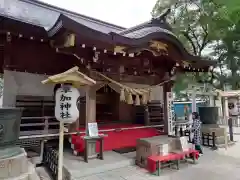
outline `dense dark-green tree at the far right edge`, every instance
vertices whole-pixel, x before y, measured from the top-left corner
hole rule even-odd
[[[220,71],[216,73],[219,85],[223,88],[228,82],[232,89],[239,89],[240,2],[234,0],[211,0],[210,2],[215,7],[209,29],[214,32],[212,38],[216,41],[213,49],[219,59]]]

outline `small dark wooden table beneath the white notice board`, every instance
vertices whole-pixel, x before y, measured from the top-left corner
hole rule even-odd
[[[84,150],[84,161],[88,163],[88,144],[90,142],[99,142],[100,143],[100,152],[98,154],[98,158],[103,160],[103,140],[104,136],[96,136],[96,137],[90,137],[90,136],[84,136],[84,143],[85,143],[85,150]]]

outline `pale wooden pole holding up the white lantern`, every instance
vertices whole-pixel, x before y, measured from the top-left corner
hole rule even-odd
[[[59,149],[58,149],[58,180],[62,180],[63,169],[63,143],[64,143],[64,122],[60,121]]]

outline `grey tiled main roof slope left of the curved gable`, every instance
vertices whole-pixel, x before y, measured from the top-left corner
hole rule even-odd
[[[60,14],[64,14],[89,28],[98,29],[104,33],[119,32],[125,29],[117,25],[60,9],[36,0],[0,1],[0,15],[42,26],[47,30],[54,25]]]

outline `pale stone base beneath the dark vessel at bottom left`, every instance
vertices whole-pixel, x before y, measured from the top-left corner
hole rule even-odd
[[[34,165],[28,161],[23,149],[16,147],[13,151],[9,148],[9,152],[5,156],[3,156],[3,152],[7,152],[7,149],[0,150],[2,155],[0,180],[39,180]]]

